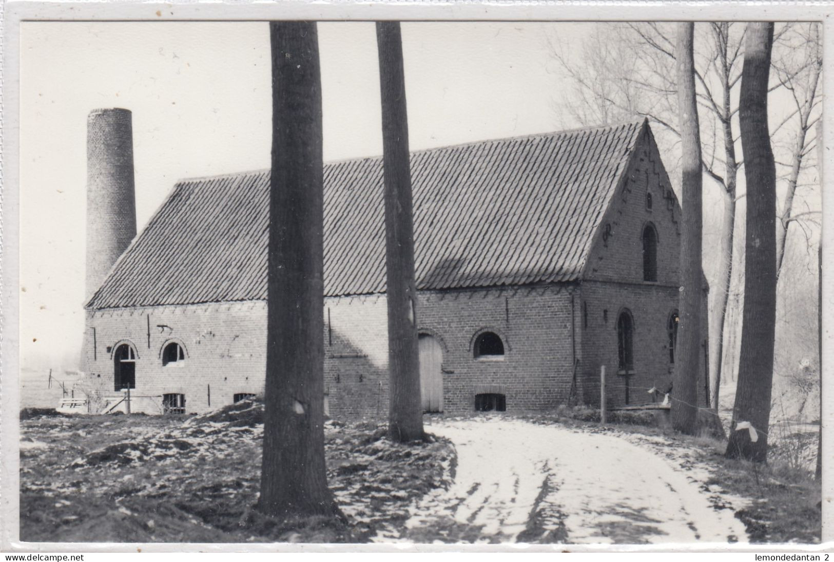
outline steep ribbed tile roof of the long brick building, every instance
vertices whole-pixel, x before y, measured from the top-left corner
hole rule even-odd
[[[411,154],[419,289],[578,279],[642,123]],[[647,125],[646,125],[647,127]],[[324,291],[385,291],[382,159],[324,167]],[[269,171],[183,180],[91,308],[267,295]]]

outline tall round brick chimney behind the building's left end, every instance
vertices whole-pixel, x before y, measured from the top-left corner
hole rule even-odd
[[[133,126],[128,109],[94,109],[87,118],[86,298],[136,235]]]

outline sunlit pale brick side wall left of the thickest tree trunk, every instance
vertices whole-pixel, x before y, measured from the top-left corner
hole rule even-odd
[[[113,351],[123,342],[137,354],[134,397],[183,393],[186,411],[201,412],[232,403],[235,393],[263,391],[264,301],[88,311],[86,322],[82,370],[105,395],[118,394],[113,389]],[[170,341],[181,343],[186,358],[163,367],[162,349]],[[138,401],[134,409],[158,413],[159,402]]]

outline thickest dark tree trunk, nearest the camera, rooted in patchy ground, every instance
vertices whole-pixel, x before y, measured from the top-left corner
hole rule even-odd
[[[324,467],[324,168],[315,23],[269,23],[273,142],[258,509],[338,513]]]

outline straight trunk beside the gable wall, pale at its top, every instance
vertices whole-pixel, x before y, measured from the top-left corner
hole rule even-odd
[[[695,435],[698,429],[698,374],[701,353],[701,133],[695,97],[692,51],[695,24],[679,23],[675,46],[678,111],[681,114],[681,305],[672,428]]]

